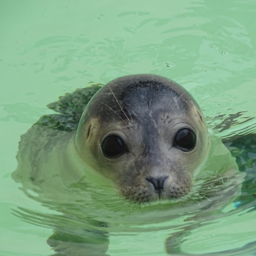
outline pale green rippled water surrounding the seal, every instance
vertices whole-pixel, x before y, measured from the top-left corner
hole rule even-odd
[[[237,123],[256,117],[255,14],[254,0],[0,1],[0,255],[52,253],[46,244],[52,229],[24,222],[14,210],[58,213],[26,197],[11,178],[20,135],[52,113],[48,103],[91,81],[154,73],[185,87],[211,127],[237,112],[245,112]],[[251,119],[220,135],[255,124]],[[193,229],[182,250],[224,251],[254,242],[256,212],[250,210]],[[164,242],[176,230],[164,225],[113,233],[108,254],[167,255]]]

